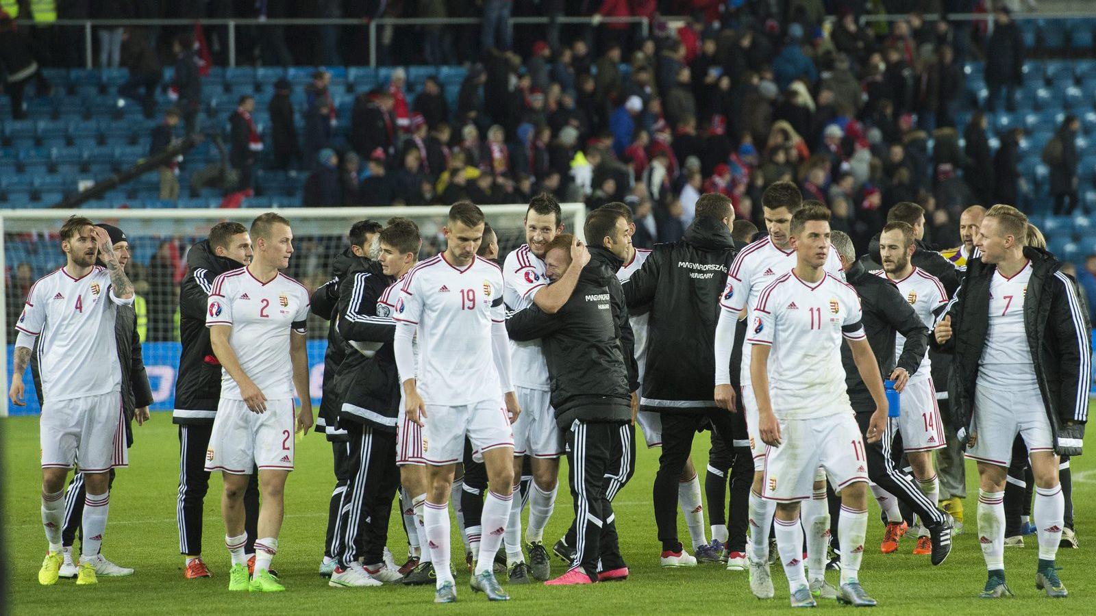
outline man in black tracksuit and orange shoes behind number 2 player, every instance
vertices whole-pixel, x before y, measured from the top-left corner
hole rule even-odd
[[[191,247],[186,253],[186,276],[179,285],[179,373],[175,378],[175,410],[171,421],[179,424],[179,551],[186,557],[183,577],[208,578],[202,561],[202,502],[209,489],[205,469],[206,448],[213,433],[213,419],[220,399],[220,362],[209,344],[205,327],[206,307],[213,281],[220,274],[239,270],[251,262],[251,237],[239,223],[219,223],[209,238]],[[259,524],[259,474],[251,474],[243,493],[247,515],[244,529],[249,568],[254,562],[254,543]]]

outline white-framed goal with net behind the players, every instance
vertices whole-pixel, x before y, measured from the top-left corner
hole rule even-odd
[[[488,223],[499,237],[499,260],[523,243],[523,219],[526,205],[484,206]],[[581,237],[585,206],[563,204],[563,224],[568,232]],[[0,415],[36,414],[39,412],[34,379],[27,369],[23,383],[26,406],[16,407],[7,399],[8,379],[12,372],[12,347],[15,322],[22,311],[26,293],[42,276],[65,265],[58,230],[70,215],[80,215],[94,223],[114,225],[125,231],[132,251],[126,273],[140,298],[138,332],[141,338],[145,366],[152,388],[152,410],[170,411],[174,407],[175,373],[179,368],[179,283],[186,275],[186,253],[203,240],[217,223],[235,220],[246,227],[264,210],[252,209],[0,209],[0,271],[4,293],[0,297],[0,353],[4,366],[0,385],[4,404]],[[338,207],[281,208],[279,214],[293,224],[294,254],[286,274],[304,284],[309,292],[331,277],[332,261],[349,244],[346,233],[357,220],[370,219],[385,224],[393,216],[414,220],[423,237],[420,258],[439,252],[444,246],[442,227],[447,206],[429,207]],[[327,350],[328,322],[310,316],[308,323],[308,360],[313,402],[319,404],[323,379],[323,353]]]

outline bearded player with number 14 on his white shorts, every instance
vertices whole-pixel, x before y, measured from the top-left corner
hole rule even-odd
[[[905,223],[888,223],[879,236],[879,256],[883,271],[877,272],[895,285],[913,307],[921,322],[932,328],[936,321],[935,311],[948,301],[947,292],[939,278],[915,267],[910,259],[915,250],[913,227]],[[897,335],[894,357],[902,355],[905,339]],[[901,369],[895,379],[894,389],[901,395],[901,414],[898,419],[898,431],[902,435],[902,446],[905,449],[913,477],[917,487],[932,502],[939,500],[940,486],[933,465],[933,452],[947,446],[944,435],[944,424],[940,410],[936,404],[936,388],[933,385],[932,362],[928,354],[921,361],[917,372],[910,377]],[[902,514],[899,512],[898,499],[884,498],[881,502],[889,505],[887,511],[887,535],[883,538],[882,551],[889,554],[898,549],[899,528]],[[933,544],[924,521],[917,521],[917,545],[913,554],[933,554]]]

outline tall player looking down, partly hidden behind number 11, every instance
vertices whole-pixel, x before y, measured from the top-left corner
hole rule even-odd
[[[817,203],[817,202],[815,202]],[[762,289],[774,280],[788,273],[796,264],[796,250],[791,246],[790,226],[792,216],[803,207],[802,195],[791,182],[774,182],[762,195],[765,227],[768,237],[743,248],[727,276],[727,288],[720,299],[722,310],[716,324],[716,403],[728,410],[737,410],[734,390],[731,388],[731,352],[734,345],[734,328],[738,320],[753,322],[753,307]],[[841,258],[830,247],[823,269],[844,280]],[[773,523],[775,504],[762,498],[762,476],[765,468],[765,443],[758,433],[757,402],[750,381],[750,356],[752,345],[742,345],[742,407],[745,409],[746,430],[750,448],[754,458],[754,480],[750,491],[750,543],[746,544],[746,562],[750,571],[750,589],[758,598],[773,597],[773,581],[769,577],[769,526]],[[826,518],[830,507],[825,497],[824,478],[819,476],[812,498],[803,503],[803,524],[807,528],[830,527]],[[817,524],[815,524],[817,522]],[[810,533],[807,540],[808,558],[811,562],[824,562],[827,537]],[[814,555],[815,558],[810,558]],[[775,555],[774,555],[775,556]],[[821,590],[824,569],[814,567],[812,580]]]

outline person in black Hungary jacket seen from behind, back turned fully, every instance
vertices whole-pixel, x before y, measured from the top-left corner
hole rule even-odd
[[[716,406],[713,385],[719,296],[737,253],[733,223],[729,197],[700,196],[685,236],[674,243],[657,244],[624,285],[629,309],[650,309],[639,404],[662,419],[654,520],[663,567],[696,564],[696,558],[677,540],[677,482],[693,449],[693,435],[710,424],[726,438],[733,438],[730,414]]]

